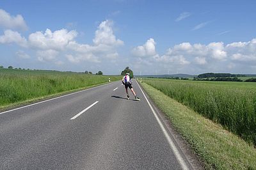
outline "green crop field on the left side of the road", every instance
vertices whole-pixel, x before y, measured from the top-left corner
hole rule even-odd
[[[86,88],[121,79],[120,76],[90,75],[42,70],[0,69],[0,108],[34,98]]]

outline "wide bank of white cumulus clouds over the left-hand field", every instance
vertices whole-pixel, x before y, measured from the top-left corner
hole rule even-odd
[[[63,54],[62,56],[66,56],[71,63],[81,61],[100,63],[103,59],[111,61],[117,59],[116,48],[124,45],[122,40],[116,38],[112,27],[113,22],[109,20],[101,22],[95,31],[92,45],[76,42],[77,31],[68,31],[67,29],[36,31],[28,36],[28,40],[17,31],[8,29],[4,31],[4,35],[0,36],[0,43],[16,43],[21,47],[28,47],[36,51],[39,61],[52,62],[56,65],[60,65],[62,62],[58,61],[58,58],[61,57],[60,53]],[[22,52],[18,52],[17,56],[26,58]]]

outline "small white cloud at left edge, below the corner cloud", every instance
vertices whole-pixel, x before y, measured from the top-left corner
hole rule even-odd
[[[4,35],[0,36],[0,43],[17,43],[21,47],[27,47],[26,38],[22,37],[17,31],[10,29],[4,31]]]

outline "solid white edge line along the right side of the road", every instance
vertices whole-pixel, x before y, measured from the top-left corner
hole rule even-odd
[[[136,81],[137,82],[137,81]],[[138,82],[137,82],[138,84]],[[140,88],[140,85],[138,84],[139,88]],[[150,109],[152,110],[156,120],[157,120],[157,123],[159,124],[159,126],[161,127],[162,131],[163,131],[163,134],[164,136],[166,137],[170,147],[172,148],[172,151],[175,155],[175,157],[177,158],[178,162],[180,163],[180,166],[182,167],[182,169],[189,169],[188,166],[186,165],[186,162],[184,161],[184,159],[181,157],[180,153],[179,153],[179,150],[177,149],[177,147],[175,146],[175,144],[173,143],[172,141],[172,138],[170,137],[170,135],[168,134],[167,130],[164,128],[164,125],[163,123],[161,122],[161,120],[158,118],[156,112],[154,111],[152,105],[150,104],[150,102],[148,101],[146,95],[143,93],[142,89],[140,88],[143,96],[146,98],[147,100],[147,103],[150,107]]]

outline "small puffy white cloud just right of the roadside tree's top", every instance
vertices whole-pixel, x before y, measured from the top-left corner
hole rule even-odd
[[[156,55],[156,42],[153,38],[147,40],[147,42],[142,45],[132,49],[132,54],[138,57],[148,57]]]

